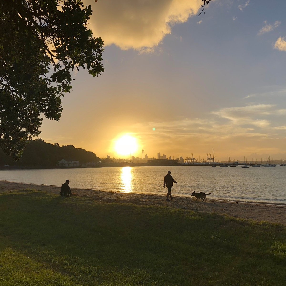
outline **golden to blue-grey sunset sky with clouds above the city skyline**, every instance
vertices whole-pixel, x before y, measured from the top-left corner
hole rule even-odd
[[[286,1],[216,0],[200,16],[200,0],[84,4],[105,72],[74,72],[45,142],[118,158],[129,134],[139,157],[286,159]]]

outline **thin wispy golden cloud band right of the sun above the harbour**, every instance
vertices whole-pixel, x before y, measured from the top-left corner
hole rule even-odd
[[[157,152],[161,152],[175,157],[190,156],[193,153],[194,156],[202,158],[211,147],[215,147],[219,156],[228,152],[232,156],[241,156],[239,154],[245,152],[262,152],[261,148],[267,145],[267,140],[277,140],[277,144],[282,144],[279,140],[285,138],[286,126],[275,124],[266,117],[272,119],[271,116],[285,112],[286,110],[277,110],[274,104],[253,104],[222,108],[204,113],[202,118],[181,117],[163,122],[158,120],[131,125],[128,123],[124,128],[144,141],[148,157],[156,157]],[[156,128],[155,131],[152,130],[153,127]],[[120,128],[122,126],[116,126],[117,130]],[[273,144],[271,143],[271,146]],[[265,148],[269,153],[269,147]]]

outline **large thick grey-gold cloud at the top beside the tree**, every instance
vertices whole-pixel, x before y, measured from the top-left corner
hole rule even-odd
[[[123,50],[153,51],[172,25],[184,23],[195,15],[200,0],[84,0],[92,5],[90,25],[105,45],[115,44]]]

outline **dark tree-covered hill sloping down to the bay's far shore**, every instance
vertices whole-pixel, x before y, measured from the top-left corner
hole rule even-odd
[[[59,146],[59,144],[49,144],[42,139],[27,141],[19,160],[4,154],[0,149],[0,166],[56,166],[61,159],[79,161],[80,164],[87,162],[99,162],[100,158],[94,152],[85,149],[75,148],[73,145]]]

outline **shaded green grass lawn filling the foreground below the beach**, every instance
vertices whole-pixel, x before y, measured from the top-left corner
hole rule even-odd
[[[279,286],[285,238],[285,226],[217,214],[6,193],[0,285]]]

